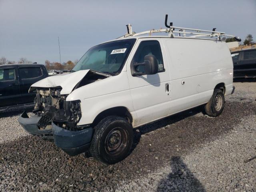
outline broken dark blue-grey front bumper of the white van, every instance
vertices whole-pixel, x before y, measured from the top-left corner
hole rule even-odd
[[[29,118],[26,111],[24,111],[20,115],[18,122],[28,133],[54,140],[56,146],[70,156],[75,156],[89,150],[93,134],[92,128],[86,128],[80,131],[70,131],[63,129],[52,122],[52,129],[42,130],[38,127],[40,118],[41,116],[32,116]]]

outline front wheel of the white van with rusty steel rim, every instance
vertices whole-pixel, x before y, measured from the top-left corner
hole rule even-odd
[[[128,156],[132,142],[131,124],[125,118],[108,116],[96,125],[90,152],[103,164],[115,164]]]

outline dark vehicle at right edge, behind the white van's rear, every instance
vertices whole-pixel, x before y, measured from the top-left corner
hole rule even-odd
[[[231,53],[234,64],[234,78],[256,78],[256,49]]]

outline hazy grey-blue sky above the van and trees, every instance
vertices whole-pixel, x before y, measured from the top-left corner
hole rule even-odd
[[[174,26],[200,28],[256,41],[256,0],[0,0],[0,57],[18,61],[79,59],[91,46],[126,33]]]

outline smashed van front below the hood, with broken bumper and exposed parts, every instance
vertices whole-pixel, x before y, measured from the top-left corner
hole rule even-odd
[[[80,100],[66,101],[67,95],[60,95],[60,91],[60,87],[36,90],[35,115],[28,118],[23,112],[18,121],[27,132],[54,140],[74,156],[89,149],[93,129],[77,126],[82,115]]]

